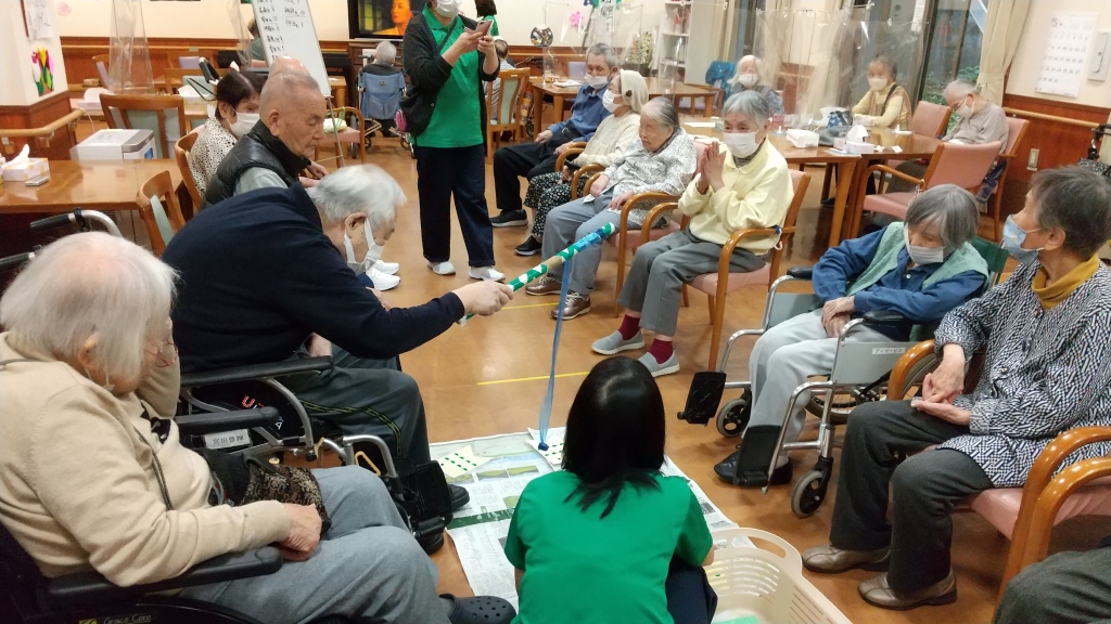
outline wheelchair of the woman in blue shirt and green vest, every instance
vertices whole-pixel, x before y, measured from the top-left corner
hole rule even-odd
[[[1007,252],[998,245],[983,239],[974,239],[972,245],[988,263],[988,288],[994,285],[1007,263]],[[752,413],[752,391],[749,381],[727,381],[725,365],[738,339],[745,335],[760,336],[771,328],[808,313],[821,306],[813,293],[779,293],[783,284],[792,281],[810,281],[813,268],[795,266],[787,271],[787,275],[775,280],[769,289],[764,303],[761,326],[752,330],[740,330],[729,338],[721,363],[717,371],[694,373],[694,380],[687,395],[687,405],[679,413],[679,419],[692,424],[707,424],[714,419],[718,432],[727,437],[741,434],[749,424]],[[909,330],[911,323],[895,312],[869,312],[861,319],[845,323],[838,336],[837,354],[833,368],[823,379],[808,381],[794,389],[788,401],[787,413],[783,414],[783,426],[780,429],[779,441],[768,466],[768,479],[775,469],[781,452],[815,449],[818,461],[794,483],[791,492],[791,511],[798,517],[809,517],[821,506],[829,490],[833,473],[833,447],[837,425],[848,422],[849,412],[861,403],[887,399],[888,380],[891,370],[899,359],[919,340],[908,342],[848,342],[852,331],[860,326],[899,326]],[[930,328],[927,328],[930,329]],[[930,332],[927,332],[930,333]],[[912,336],[918,339],[919,336]],[[924,338],[930,338],[925,335]],[[931,362],[928,359],[914,362],[905,376],[908,396],[917,392],[922,380],[929,372]],[[721,409],[721,399],[725,390],[741,390],[741,396],[730,400]],[[807,411],[820,419],[818,437],[813,441],[787,442],[787,421],[801,396],[810,393]],[[763,487],[768,492],[768,486]]]

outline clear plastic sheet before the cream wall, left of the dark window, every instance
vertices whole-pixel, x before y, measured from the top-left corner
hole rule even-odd
[[[844,95],[851,87],[842,84],[853,77],[852,59],[845,56],[850,11],[757,11],[753,19],[755,84],[782,99],[787,127],[814,128],[824,123],[829,109],[851,105]],[[741,88],[742,73],[752,71],[738,68],[732,92]]]

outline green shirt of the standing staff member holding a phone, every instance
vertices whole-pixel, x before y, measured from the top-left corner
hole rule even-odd
[[[463,33],[463,20],[443,26],[424,7],[424,20],[432,29],[437,46],[448,37],[447,50]],[[449,32],[448,29],[451,29]],[[442,53],[442,52],[441,52]],[[436,95],[432,120],[424,133],[414,138],[422,148],[470,148],[482,143],[482,113],[479,101],[479,53],[467,52],[451,68],[451,76]]]

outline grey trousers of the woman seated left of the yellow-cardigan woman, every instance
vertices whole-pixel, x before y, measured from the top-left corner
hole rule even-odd
[[[612,199],[612,194],[602,193],[592,202],[578,199],[549,212],[540,250],[543,256],[556,255],[607,223],[617,225],[621,221],[621,213],[607,210]],[[594,274],[598,273],[598,264],[601,261],[602,245],[589,246],[577,253],[571,263],[570,289],[579,294],[589,295],[593,292]],[[551,275],[562,279],[563,268],[556,269]]]

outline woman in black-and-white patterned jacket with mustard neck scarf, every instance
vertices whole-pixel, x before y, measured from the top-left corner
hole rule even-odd
[[[853,410],[830,543],[803,553],[808,568],[887,567],[859,587],[884,608],[957,600],[953,505],[1021,486],[1059,433],[1111,425],[1111,272],[1095,256],[1109,238],[1107,180],[1077,167],[1033,177],[1003,230],[1003,249],[1021,265],[945,315],[934,338],[941,363],[921,399]],[[967,392],[977,352],[983,365]],[[1090,444],[1062,465],[1109,452],[1111,443]]]

